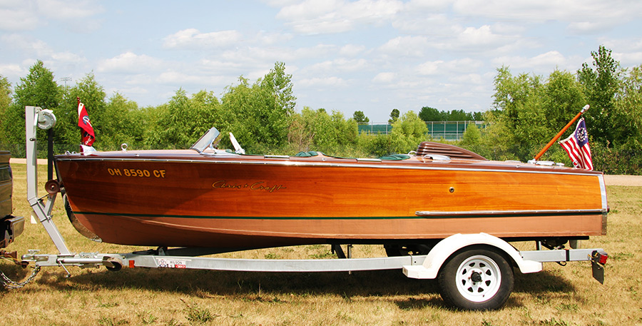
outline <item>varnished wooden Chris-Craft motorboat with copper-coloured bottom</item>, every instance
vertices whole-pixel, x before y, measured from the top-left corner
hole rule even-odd
[[[600,172],[487,161],[437,143],[379,159],[241,155],[214,149],[216,136],[212,128],[189,150],[56,156],[72,222],[108,243],[208,248],[606,233]]]

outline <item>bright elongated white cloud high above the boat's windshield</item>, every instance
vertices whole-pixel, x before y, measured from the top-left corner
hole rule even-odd
[[[165,49],[215,49],[238,44],[243,36],[238,31],[201,33],[198,29],[183,29],[163,39]]]

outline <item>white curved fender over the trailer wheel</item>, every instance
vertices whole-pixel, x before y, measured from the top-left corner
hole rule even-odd
[[[430,250],[422,265],[404,266],[404,274],[410,278],[434,279],[439,268],[457,250],[469,245],[489,245],[509,255],[523,273],[540,272],[542,264],[533,260],[524,260],[519,251],[504,240],[487,233],[456,234],[439,241]],[[510,262],[509,262],[510,263]]]

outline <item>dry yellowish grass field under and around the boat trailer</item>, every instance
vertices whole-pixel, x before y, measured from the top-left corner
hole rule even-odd
[[[29,220],[26,165],[13,164],[14,215]],[[46,167],[39,167],[44,194]],[[123,268],[43,268],[34,282],[0,290],[0,325],[642,325],[642,187],[609,186],[608,235],[584,248],[609,253],[606,281],[591,277],[588,262],[544,265],[516,272],[506,306],[462,312],[444,306],[430,280],[412,280],[400,270],[382,272],[260,273]],[[62,203],[54,220],[74,252],[126,253],[141,248],[93,243],[73,230]],[[534,248],[531,243],[519,248]],[[39,224],[26,225],[9,245],[57,253]],[[146,248],[145,248],[146,249]],[[329,245],[251,250],[238,258],[329,258]],[[382,256],[379,246],[355,246],[353,256]],[[7,260],[0,270],[23,279]]]

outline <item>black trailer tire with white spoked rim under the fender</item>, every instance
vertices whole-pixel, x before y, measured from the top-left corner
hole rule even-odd
[[[446,261],[437,276],[449,305],[464,310],[494,310],[513,290],[513,270],[504,256],[489,248],[468,248]]]

